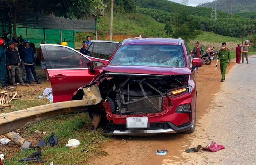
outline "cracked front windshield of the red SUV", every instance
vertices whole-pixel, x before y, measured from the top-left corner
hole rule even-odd
[[[110,61],[112,65],[186,67],[181,45],[121,45]]]

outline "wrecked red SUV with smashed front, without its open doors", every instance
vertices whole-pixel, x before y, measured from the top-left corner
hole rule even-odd
[[[182,40],[129,38],[115,50],[107,65],[90,84],[97,85],[100,104],[88,107],[95,128],[105,134],[192,133],[196,124],[196,67],[202,59],[191,58]],[[94,62],[92,62],[94,63]]]

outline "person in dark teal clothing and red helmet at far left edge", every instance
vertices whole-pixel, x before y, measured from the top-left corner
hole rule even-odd
[[[5,50],[2,48],[2,44],[5,40],[0,39],[0,80],[2,85],[2,90],[6,90],[6,80],[7,80],[7,67],[6,67],[6,55]]]

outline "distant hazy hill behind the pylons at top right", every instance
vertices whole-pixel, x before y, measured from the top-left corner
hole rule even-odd
[[[215,2],[206,2],[197,7],[212,8]],[[229,0],[216,0],[216,9],[228,12]],[[233,0],[232,12],[256,12],[256,0]]]

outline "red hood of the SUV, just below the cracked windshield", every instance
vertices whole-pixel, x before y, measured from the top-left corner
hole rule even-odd
[[[101,65],[94,70],[103,70],[113,73],[129,73],[129,74],[153,74],[153,75],[189,75],[190,68],[180,67],[157,67],[157,66],[116,66],[116,65]]]

